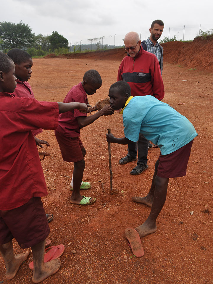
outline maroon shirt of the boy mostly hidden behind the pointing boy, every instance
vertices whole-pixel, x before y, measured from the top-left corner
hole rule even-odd
[[[17,85],[15,88],[15,91],[14,93],[12,93],[14,96],[18,98],[24,97],[24,98],[35,99],[33,90],[28,82],[22,82],[20,80],[16,80],[16,82],[17,82]],[[33,136],[36,136],[41,132],[42,132],[41,128],[32,131]]]

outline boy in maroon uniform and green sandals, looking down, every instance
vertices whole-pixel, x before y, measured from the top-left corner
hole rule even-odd
[[[88,104],[87,95],[95,94],[101,85],[102,80],[99,72],[88,70],[83,76],[83,81],[72,87],[67,93],[64,102],[78,101]],[[91,110],[97,110],[97,107],[94,106]],[[91,124],[102,115],[111,115],[112,113],[114,113],[112,107],[105,105],[103,109],[88,117],[87,114],[83,114],[76,109],[59,115],[59,126],[55,130],[55,135],[62,158],[66,162],[74,162],[73,179],[70,184],[70,189],[73,189],[70,198],[72,204],[88,205],[96,201],[96,198],[80,195],[80,189],[90,188],[89,183],[82,183],[86,150],[79,138],[80,129]]]

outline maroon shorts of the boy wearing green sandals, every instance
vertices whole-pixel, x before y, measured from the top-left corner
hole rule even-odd
[[[55,130],[55,136],[58,141],[62,158],[66,162],[79,162],[83,160],[83,143],[78,137],[67,137]]]

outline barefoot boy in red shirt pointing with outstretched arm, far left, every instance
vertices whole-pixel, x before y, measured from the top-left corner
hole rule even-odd
[[[45,239],[49,225],[41,196],[47,189],[32,130],[56,129],[59,113],[87,112],[80,103],[38,102],[10,93],[17,85],[14,63],[0,52],[0,252],[6,264],[6,278],[12,279],[29,250],[14,256],[12,239],[33,252],[33,282],[39,283],[57,272],[60,259],[44,263]],[[39,116],[38,116],[39,112]]]

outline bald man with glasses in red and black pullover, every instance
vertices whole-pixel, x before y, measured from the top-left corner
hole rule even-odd
[[[164,85],[157,57],[143,50],[136,32],[125,35],[124,45],[129,56],[124,57],[119,66],[117,81],[123,80],[130,85],[131,96],[150,95],[161,101],[164,98]],[[149,141],[140,134],[138,142],[128,145],[128,154],[119,160],[119,164],[136,161],[138,154],[137,165],[130,174],[141,174],[148,169],[148,148]]]

